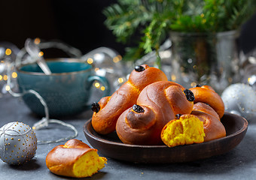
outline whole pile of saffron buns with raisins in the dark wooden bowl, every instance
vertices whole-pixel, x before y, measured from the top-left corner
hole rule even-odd
[[[214,89],[185,89],[148,65],[137,66],[120,89],[93,103],[92,109],[94,130],[116,130],[127,144],[173,147],[226,136],[224,103]]]

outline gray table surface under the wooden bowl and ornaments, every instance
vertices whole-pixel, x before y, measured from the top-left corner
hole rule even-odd
[[[91,115],[92,112],[88,110],[81,115],[60,118],[60,120],[74,125],[79,133],[77,139],[88,143],[84,136],[83,125]],[[20,98],[11,95],[0,98],[0,127],[11,121],[21,121],[32,126],[40,119],[30,112]],[[91,179],[256,179],[255,122],[249,121],[245,138],[226,154],[190,163],[171,164],[127,163],[107,157],[108,163]],[[37,131],[38,139],[57,138],[72,133],[65,127],[59,126],[39,131]],[[64,143],[38,145],[35,157],[20,166],[10,166],[0,160],[0,179],[72,179],[54,175],[45,164],[47,153],[56,145]],[[100,151],[99,155],[102,155]]]

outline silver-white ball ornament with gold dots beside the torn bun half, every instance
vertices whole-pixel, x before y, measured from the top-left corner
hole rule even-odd
[[[10,122],[0,128],[0,158],[19,165],[32,159],[37,149],[35,132],[22,122]]]

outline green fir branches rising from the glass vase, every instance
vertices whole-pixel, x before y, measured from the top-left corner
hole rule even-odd
[[[256,0],[117,0],[106,7],[105,25],[117,41],[136,48],[124,58],[135,60],[158,50],[169,31],[218,32],[239,28],[256,10]]]

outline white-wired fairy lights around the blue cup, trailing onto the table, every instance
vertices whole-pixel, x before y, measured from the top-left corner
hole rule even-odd
[[[109,81],[115,80],[118,86],[120,86],[126,79],[126,75],[120,74],[120,72],[122,71],[116,71],[117,67],[115,66],[120,63],[122,57],[121,55],[118,55],[117,53],[112,52],[111,49],[99,48],[93,53],[93,55],[88,56],[88,55],[81,55],[81,52],[79,52],[78,49],[72,48],[70,46],[67,46],[59,42],[42,43],[40,38],[35,38],[34,43],[37,44],[39,47],[40,46],[43,47],[40,49],[57,47],[65,51],[69,51],[69,54],[73,55],[73,58],[75,56],[75,58],[79,58],[81,59],[81,61],[88,63],[90,65],[93,65],[93,68],[96,74],[102,75],[104,77],[108,77],[110,75],[108,80]],[[5,48],[5,52],[3,52],[3,48]],[[109,61],[107,62],[107,65],[109,65],[109,67],[106,67],[101,63],[101,62],[105,62],[105,56],[101,55],[102,51],[109,56],[108,58],[106,58],[107,61]],[[40,51],[38,53],[38,56],[43,56],[43,55],[44,55],[43,51]],[[35,95],[36,98],[38,98],[38,100],[44,106],[45,117],[41,118],[41,121],[38,121],[33,125],[32,128],[34,130],[40,130],[41,128],[47,127],[48,124],[50,123],[55,123],[55,124],[61,124],[62,126],[68,127],[70,130],[74,132],[72,136],[63,137],[61,139],[55,139],[50,141],[38,139],[38,143],[45,144],[45,143],[52,143],[52,142],[60,142],[63,140],[66,141],[67,139],[75,138],[75,136],[78,136],[78,130],[76,130],[75,127],[73,127],[71,124],[67,124],[58,119],[49,118],[49,111],[48,111],[47,104],[44,101],[44,98],[42,98],[38,92],[35,92],[33,89],[27,92],[21,92],[21,93],[13,91],[17,86],[16,81],[17,81],[18,75],[16,73],[16,68],[18,68],[20,65],[25,65],[29,63],[35,63],[35,62],[36,62],[35,59],[32,59],[32,57],[28,55],[28,53],[26,52],[26,49],[23,48],[23,49],[20,49],[19,52],[14,53],[14,51],[11,48],[8,48],[8,47],[6,48],[6,46],[2,47],[0,44],[0,89],[2,88],[2,93],[11,94],[13,97],[22,97],[23,95],[30,93]],[[119,72],[119,74],[118,73],[116,74],[116,72]],[[113,79],[113,75],[115,77],[114,79]],[[109,83],[113,83],[113,82],[109,82]],[[102,86],[102,84],[97,81],[94,83],[94,87],[101,91],[105,91],[106,89],[105,86]],[[117,86],[115,88],[117,88]]]

